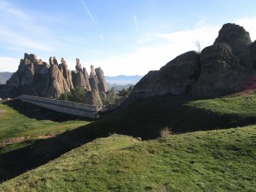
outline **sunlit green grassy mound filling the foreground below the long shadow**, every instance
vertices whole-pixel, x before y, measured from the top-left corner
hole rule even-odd
[[[255,191],[256,126],[84,144],[3,191]]]

